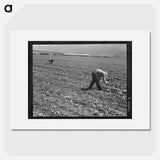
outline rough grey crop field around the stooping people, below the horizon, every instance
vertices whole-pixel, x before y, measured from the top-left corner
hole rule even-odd
[[[50,58],[53,64],[46,63]],[[96,85],[83,90],[98,68],[109,73],[111,87],[102,81],[103,91]],[[33,117],[125,117],[126,94],[118,94],[112,86],[126,90],[126,80],[125,58],[34,55]]]

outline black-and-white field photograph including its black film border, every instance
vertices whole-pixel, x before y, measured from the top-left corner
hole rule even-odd
[[[132,41],[28,41],[29,119],[132,119]]]

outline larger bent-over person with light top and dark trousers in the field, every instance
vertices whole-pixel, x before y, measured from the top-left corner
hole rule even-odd
[[[96,83],[97,88],[99,90],[102,90],[100,80],[101,78],[103,79],[103,82],[105,85],[107,85],[109,82],[107,81],[108,78],[108,73],[105,71],[102,71],[101,69],[96,69],[95,71],[92,72],[92,81],[87,89],[91,89],[93,85]]]

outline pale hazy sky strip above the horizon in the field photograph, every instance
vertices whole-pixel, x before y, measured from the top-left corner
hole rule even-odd
[[[33,50],[50,50],[61,53],[90,54],[94,56],[125,56],[126,44],[33,45]]]

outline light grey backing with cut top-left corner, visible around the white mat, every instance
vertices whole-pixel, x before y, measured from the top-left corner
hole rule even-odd
[[[151,5],[26,5],[5,26],[6,67],[9,64],[10,30],[149,30],[152,32],[153,54],[155,9]],[[147,156],[156,150],[154,107],[151,131],[11,131],[7,79],[8,67],[4,143],[9,155]],[[152,99],[154,106],[154,97]]]

